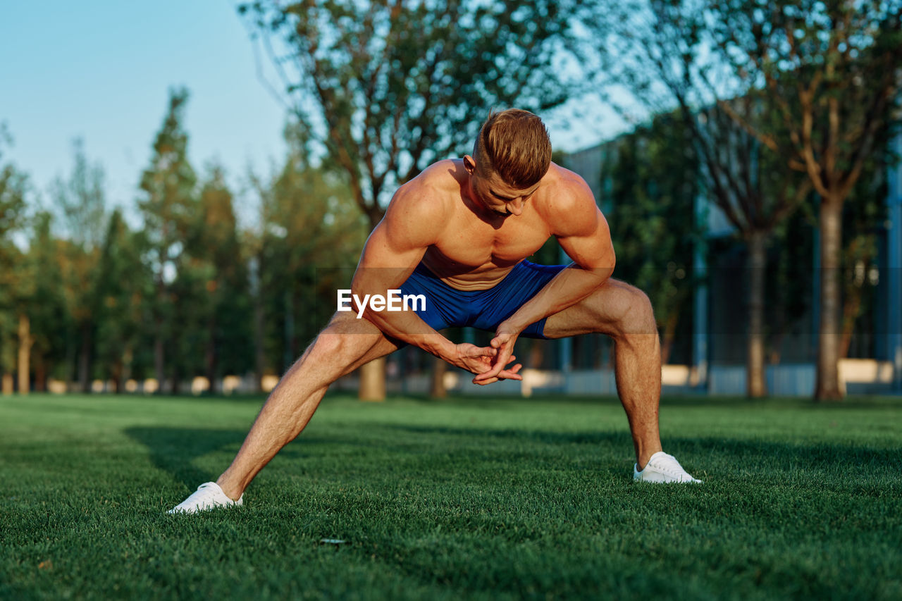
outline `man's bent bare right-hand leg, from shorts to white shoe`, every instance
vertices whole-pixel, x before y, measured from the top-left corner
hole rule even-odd
[[[590,333],[607,334],[614,340],[617,392],[630,421],[636,462],[643,468],[661,450],[661,349],[649,297],[634,286],[608,280],[545,322],[544,334],[549,338]]]

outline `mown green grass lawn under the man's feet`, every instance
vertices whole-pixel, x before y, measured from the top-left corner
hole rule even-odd
[[[163,512],[260,399],[0,397],[0,598],[902,597],[902,399],[327,397],[241,508]],[[346,541],[320,544],[324,538]]]

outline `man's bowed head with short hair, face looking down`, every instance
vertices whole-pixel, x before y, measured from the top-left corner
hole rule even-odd
[[[487,208],[519,215],[551,164],[551,141],[538,116],[519,108],[490,113],[473,156],[464,157],[474,194]]]

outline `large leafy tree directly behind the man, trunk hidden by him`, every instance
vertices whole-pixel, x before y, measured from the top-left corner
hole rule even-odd
[[[571,8],[552,0],[303,0],[238,10],[281,74],[305,142],[344,175],[372,228],[387,192],[468,148],[490,108],[538,112],[566,99],[554,56]]]

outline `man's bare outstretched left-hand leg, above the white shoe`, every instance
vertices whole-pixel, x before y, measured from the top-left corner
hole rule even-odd
[[[304,430],[329,384],[398,347],[366,319],[336,313],[272,390],[235,460],[216,484],[238,499],[253,476]]]

